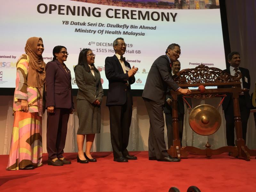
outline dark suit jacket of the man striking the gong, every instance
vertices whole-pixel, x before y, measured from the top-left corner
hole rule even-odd
[[[164,105],[167,87],[177,90],[179,85],[172,79],[168,56],[162,55],[154,61],[148,72],[142,97]]]

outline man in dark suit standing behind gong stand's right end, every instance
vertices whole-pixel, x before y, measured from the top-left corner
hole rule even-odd
[[[228,63],[230,67],[225,69],[224,71],[228,74],[234,76],[236,71],[242,73],[241,88],[244,89],[244,92],[241,92],[239,95],[239,107],[241,113],[241,121],[242,121],[242,132],[243,139],[246,140],[246,131],[247,131],[247,122],[250,115],[251,108],[251,100],[249,95],[249,90],[251,86],[251,79],[249,70],[246,68],[239,67],[241,62],[239,52],[231,52],[228,54]],[[226,119],[226,137],[228,146],[235,146],[234,138],[234,107],[233,107],[233,99],[232,95],[229,93],[225,97],[222,103],[222,109],[224,110],[224,115]]]

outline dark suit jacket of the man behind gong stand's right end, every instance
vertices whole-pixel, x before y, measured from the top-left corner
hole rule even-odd
[[[249,70],[246,69],[246,68],[242,68],[242,67],[239,67],[239,70],[242,73],[243,88],[250,89],[251,78],[250,78]],[[223,71],[225,71],[228,74],[230,74],[230,68],[229,67],[227,69],[224,69]],[[248,83],[245,82],[245,78],[244,77],[247,77],[247,82]],[[228,87],[231,87],[231,86],[227,85],[227,86],[218,86],[218,87],[220,87],[220,88],[228,88]],[[245,101],[246,101],[246,106],[248,108],[251,108],[251,99],[250,99],[250,95],[249,95],[248,92],[244,92],[244,98],[245,98]],[[227,96],[225,97],[225,99],[223,100],[223,103],[222,103],[223,110],[226,110],[228,108],[228,104],[229,104],[229,101],[231,99],[232,99],[232,94],[228,93]]]

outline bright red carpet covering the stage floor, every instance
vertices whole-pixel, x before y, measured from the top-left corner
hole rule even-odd
[[[177,187],[181,192],[191,185],[202,192],[256,191],[256,159],[250,162],[223,154],[207,159],[190,156],[181,162],[167,163],[148,160],[148,152],[131,152],[138,160],[128,163],[113,161],[113,153],[97,152],[98,162],[76,163],[75,153],[66,153],[70,165],[47,165],[34,170],[6,171],[7,155],[0,156],[0,191],[161,191]]]

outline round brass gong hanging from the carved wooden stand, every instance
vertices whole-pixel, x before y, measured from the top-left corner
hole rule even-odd
[[[220,113],[211,105],[198,105],[189,114],[189,125],[199,135],[211,135],[221,124]]]

